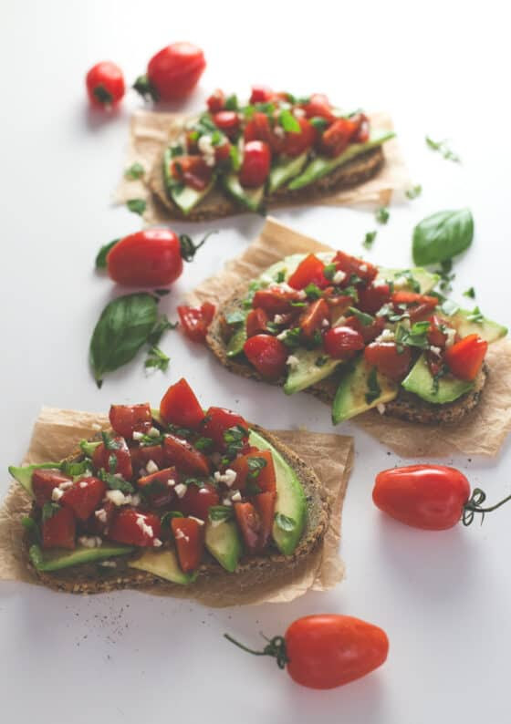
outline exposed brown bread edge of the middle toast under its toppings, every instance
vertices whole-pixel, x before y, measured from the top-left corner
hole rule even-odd
[[[227,339],[225,334],[227,327],[224,322],[224,315],[235,311],[235,309],[239,309],[247,292],[248,286],[247,284],[243,284],[238,287],[235,293],[224,303],[221,312],[214,316],[214,320],[208,330],[206,342],[221,364],[232,372],[235,372],[236,375],[283,387],[286,381],[285,378],[268,382],[268,380],[264,380],[255,367],[252,367],[245,359],[240,357],[227,357]],[[341,370],[339,370],[337,374],[334,373],[331,377],[322,379],[317,384],[305,389],[304,392],[308,392],[323,402],[326,402],[328,405],[331,405],[335,398],[337,388],[339,387],[340,374],[342,374]],[[411,392],[407,392],[401,388],[397,398],[385,404],[383,414],[394,418],[405,419],[409,422],[420,422],[425,425],[454,424],[459,422],[470,410],[476,407],[485,387],[487,375],[488,369],[486,365],[484,365],[475,379],[474,388],[470,389],[462,395],[462,397],[454,400],[454,402],[449,402],[444,405],[426,402],[422,398],[417,397],[417,395],[413,395]],[[375,409],[373,410],[373,414],[378,415],[380,413]]]

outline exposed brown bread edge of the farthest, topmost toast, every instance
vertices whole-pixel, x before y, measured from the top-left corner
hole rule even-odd
[[[277,189],[275,193],[266,196],[266,209],[308,203],[336,191],[357,186],[375,176],[381,170],[384,162],[385,156],[381,146],[370,149],[302,189],[296,191],[291,191],[286,187]],[[226,193],[214,189],[190,213],[184,214],[179,206],[172,202],[167,195],[163,181],[161,159],[153,166],[148,183],[151,191],[158,201],[163,204],[172,219],[205,222],[211,219],[220,219],[223,216],[247,212],[242,203],[235,202]]]

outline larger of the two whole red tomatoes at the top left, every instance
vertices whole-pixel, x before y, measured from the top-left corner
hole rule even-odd
[[[143,98],[180,100],[188,96],[206,67],[203,51],[192,43],[172,43],[151,57],[147,74],[133,88]]]

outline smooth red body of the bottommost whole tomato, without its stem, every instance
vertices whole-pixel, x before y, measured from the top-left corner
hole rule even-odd
[[[308,615],[287,628],[287,673],[304,687],[334,688],[380,667],[389,639],[379,626],[349,615]]]

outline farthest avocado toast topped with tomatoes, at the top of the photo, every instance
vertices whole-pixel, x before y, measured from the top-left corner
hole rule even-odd
[[[356,185],[381,169],[381,146],[394,136],[318,93],[253,88],[244,105],[217,90],[207,106],[172,130],[151,174],[152,191],[177,218],[259,212]]]

